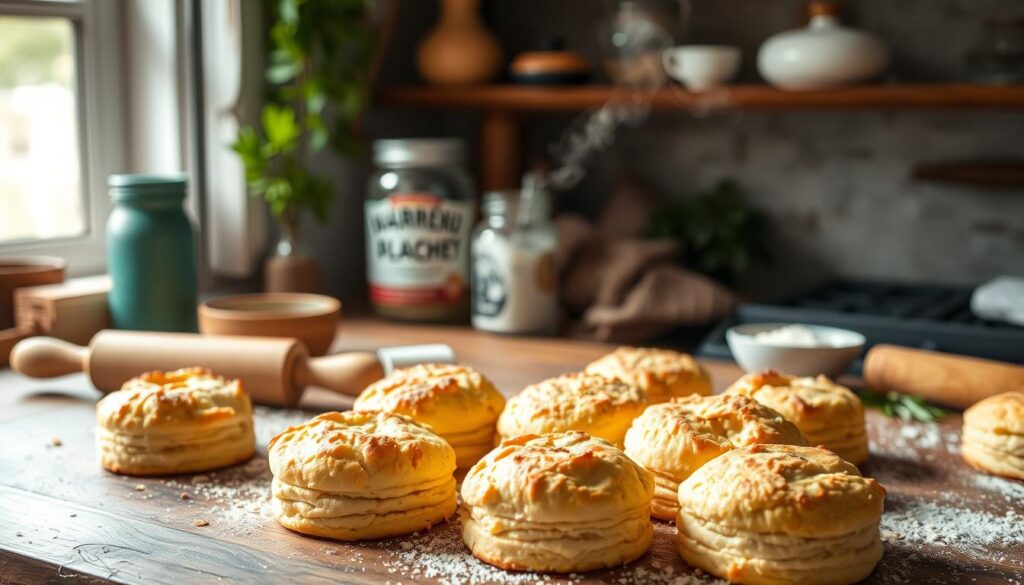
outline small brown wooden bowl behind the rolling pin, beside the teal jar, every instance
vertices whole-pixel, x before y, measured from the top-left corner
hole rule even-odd
[[[222,296],[199,305],[199,330],[207,335],[296,337],[311,356],[331,348],[341,301],[304,293]]]

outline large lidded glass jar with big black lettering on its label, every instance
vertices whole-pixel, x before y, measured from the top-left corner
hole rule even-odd
[[[377,140],[374,162],[366,232],[375,310],[403,321],[465,321],[475,207],[462,141]]]

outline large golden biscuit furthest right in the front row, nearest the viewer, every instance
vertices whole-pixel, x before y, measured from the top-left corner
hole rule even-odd
[[[679,486],[677,544],[734,583],[855,583],[882,558],[884,502],[878,482],[825,449],[735,449]]]

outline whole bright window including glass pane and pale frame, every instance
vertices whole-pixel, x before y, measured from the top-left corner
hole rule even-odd
[[[103,266],[125,168],[118,2],[0,0],[0,254]]]

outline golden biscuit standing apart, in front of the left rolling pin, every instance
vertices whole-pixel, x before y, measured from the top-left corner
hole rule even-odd
[[[242,382],[209,370],[142,374],[96,405],[97,456],[115,473],[216,469],[249,459],[255,445]]]

